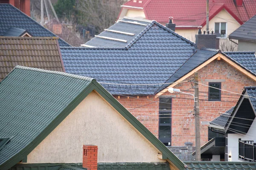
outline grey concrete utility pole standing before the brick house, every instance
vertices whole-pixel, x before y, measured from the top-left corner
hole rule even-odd
[[[201,161],[200,149],[200,117],[199,117],[199,87],[198,87],[198,72],[194,74],[195,82],[195,160]]]

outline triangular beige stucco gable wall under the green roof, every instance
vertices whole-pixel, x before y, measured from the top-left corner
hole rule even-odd
[[[27,157],[27,163],[82,162],[83,144],[98,162],[159,162],[157,149],[96,92],[91,92]]]

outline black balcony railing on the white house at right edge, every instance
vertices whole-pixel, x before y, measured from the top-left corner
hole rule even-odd
[[[256,143],[239,140],[239,159],[256,161]]]

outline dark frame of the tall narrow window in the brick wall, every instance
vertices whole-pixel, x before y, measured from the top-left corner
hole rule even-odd
[[[170,142],[170,145],[172,145],[172,98],[171,97],[169,97],[168,99],[170,99],[170,109],[168,109],[168,110],[170,110],[170,111],[163,111],[163,110],[161,110],[162,108],[160,108],[160,102],[161,102],[161,99],[163,99],[163,98],[165,98],[166,99],[166,97],[160,97],[159,98],[159,116],[158,116],[158,139],[161,141],[161,142],[163,142],[164,144],[166,144],[166,146],[168,146],[167,144]],[[160,120],[161,120],[161,114],[170,114],[170,123],[160,123]],[[168,127],[170,127],[170,137],[168,138],[168,137],[166,137],[166,138],[161,138],[160,137],[160,127],[166,127],[166,128],[168,128]]]

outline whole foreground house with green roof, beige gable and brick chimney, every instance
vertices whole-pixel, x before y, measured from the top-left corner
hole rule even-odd
[[[1,170],[184,168],[92,78],[16,66],[0,89]]]

